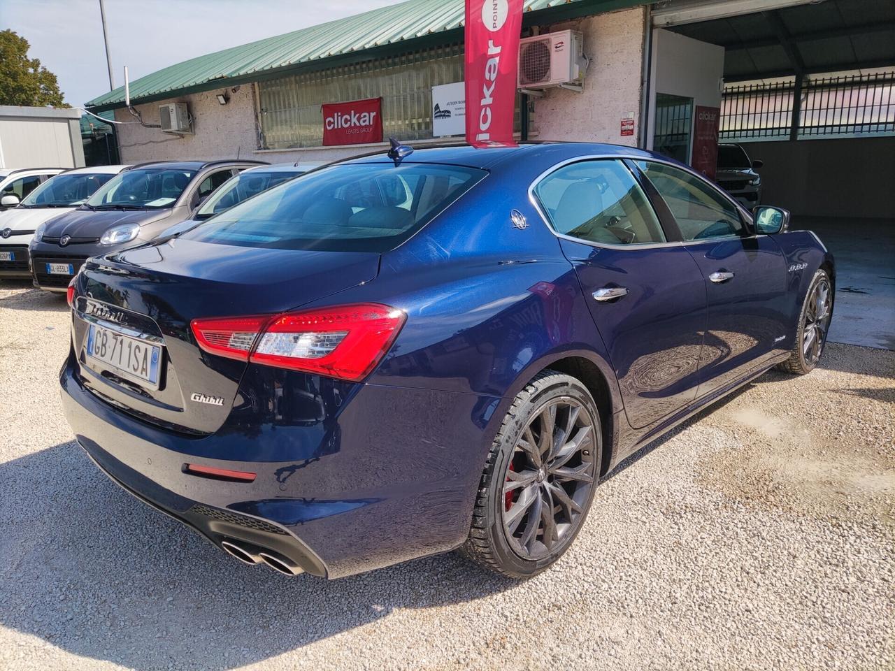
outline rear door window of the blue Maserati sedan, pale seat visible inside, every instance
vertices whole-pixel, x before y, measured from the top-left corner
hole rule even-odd
[[[557,233],[604,244],[665,242],[644,191],[616,160],[563,166],[534,193]]]

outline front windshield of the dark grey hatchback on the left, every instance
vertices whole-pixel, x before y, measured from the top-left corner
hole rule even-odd
[[[98,209],[171,208],[190,184],[195,170],[136,168],[115,175],[87,204]]]

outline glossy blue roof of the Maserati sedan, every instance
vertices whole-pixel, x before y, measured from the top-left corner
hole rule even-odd
[[[574,156],[630,156],[648,158],[658,156],[644,149],[635,149],[626,145],[605,144],[599,142],[527,142],[518,147],[499,147],[475,149],[469,145],[453,145],[447,147],[427,147],[415,149],[413,154],[405,157],[403,163],[441,163],[455,166],[490,168],[512,159],[533,157],[544,153]],[[345,163],[388,163],[386,151],[355,157]]]

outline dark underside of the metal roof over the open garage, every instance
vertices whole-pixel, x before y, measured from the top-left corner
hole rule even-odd
[[[724,47],[727,82],[895,65],[891,0],[670,2],[653,24]]]

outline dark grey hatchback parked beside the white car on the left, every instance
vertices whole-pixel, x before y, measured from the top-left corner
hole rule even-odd
[[[188,219],[234,174],[261,161],[181,161],[133,166],[80,208],[38,227],[30,243],[34,285],[64,292],[91,256],[132,247]]]

